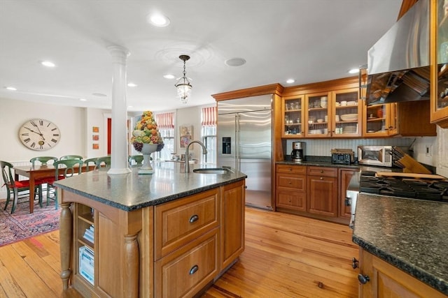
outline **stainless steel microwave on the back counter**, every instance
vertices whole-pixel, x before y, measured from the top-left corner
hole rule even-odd
[[[358,146],[358,163],[360,165],[379,165],[392,167],[392,146]]]

